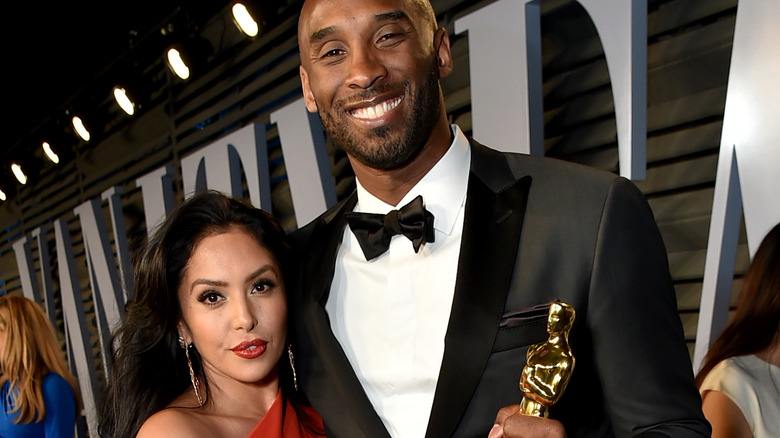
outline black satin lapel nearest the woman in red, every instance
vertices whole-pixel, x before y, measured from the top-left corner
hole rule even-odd
[[[346,226],[344,212],[351,211],[356,200],[353,194],[342,208],[317,224],[303,256],[306,275],[301,279],[304,292],[299,310],[310,341],[307,346],[311,357],[305,359],[308,375],[302,379],[302,385],[334,436],[389,437],[333,335],[325,311],[336,252]]]

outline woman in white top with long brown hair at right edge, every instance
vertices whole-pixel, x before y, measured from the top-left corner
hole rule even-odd
[[[758,247],[696,383],[714,438],[780,433],[780,224]]]

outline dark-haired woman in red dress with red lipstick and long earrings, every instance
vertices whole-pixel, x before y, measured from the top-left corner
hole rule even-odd
[[[99,432],[316,436],[287,343],[289,246],[273,217],[217,192],[179,206],[134,260]]]

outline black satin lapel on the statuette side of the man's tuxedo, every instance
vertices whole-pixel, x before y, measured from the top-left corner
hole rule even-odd
[[[472,146],[455,297],[428,437],[452,436],[490,356],[512,279],[530,183],[530,177],[516,180],[500,153]]]

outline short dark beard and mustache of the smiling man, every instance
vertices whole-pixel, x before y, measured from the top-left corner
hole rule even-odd
[[[348,100],[367,100],[388,89],[403,87],[407,105],[404,118],[390,125],[371,130],[358,130],[344,110]],[[383,84],[372,87],[360,95],[336,102],[330,111],[320,109],[319,115],[325,132],[338,147],[358,162],[374,169],[395,169],[414,158],[431,135],[439,117],[439,72],[436,58],[425,82],[413,95],[411,81],[401,84]],[[323,108],[320,106],[320,108]]]

